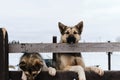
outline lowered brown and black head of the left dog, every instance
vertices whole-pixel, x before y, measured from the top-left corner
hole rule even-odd
[[[43,62],[38,53],[25,53],[19,63],[20,69],[24,72],[27,80],[34,80],[43,67]]]

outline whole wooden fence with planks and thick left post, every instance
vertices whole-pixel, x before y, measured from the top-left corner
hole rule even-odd
[[[55,37],[53,42],[56,42]],[[4,28],[0,28],[0,80],[21,80],[21,71],[8,70],[8,54],[22,52],[52,52],[52,53],[73,53],[73,52],[119,52],[120,43],[8,43],[8,34]],[[96,53],[97,54],[97,53]],[[110,58],[110,56],[109,56]],[[118,62],[119,64],[119,62]],[[93,72],[86,72],[87,80],[120,80],[120,71],[105,71],[105,75],[100,77]],[[36,80],[78,80],[74,72],[57,71],[57,75],[52,77],[47,72],[41,72]]]

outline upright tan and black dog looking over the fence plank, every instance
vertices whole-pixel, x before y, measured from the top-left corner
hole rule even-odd
[[[66,26],[59,22],[58,26],[61,33],[60,43],[74,44],[79,42],[83,30],[83,21],[75,26]],[[79,80],[86,80],[85,71],[94,71],[100,76],[104,74],[104,71],[98,67],[86,67],[81,53],[53,54],[53,65],[57,70],[77,72]]]

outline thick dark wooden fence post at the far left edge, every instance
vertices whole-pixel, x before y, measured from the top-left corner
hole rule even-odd
[[[0,80],[9,80],[8,34],[5,28],[0,28]]]

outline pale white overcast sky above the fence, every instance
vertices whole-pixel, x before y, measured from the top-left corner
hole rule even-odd
[[[120,0],[0,0],[0,27],[9,41],[51,42],[58,22],[84,21],[82,40],[115,41],[120,36]]]

